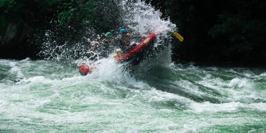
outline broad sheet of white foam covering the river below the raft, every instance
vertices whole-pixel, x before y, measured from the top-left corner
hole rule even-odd
[[[247,120],[260,124],[262,120],[253,116],[240,118],[228,115],[221,118],[217,115],[223,112],[238,113],[241,110],[266,111],[266,103],[197,103],[176,94],[156,90],[144,81],[127,74],[124,64],[117,64],[113,59],[101,59],[99,62],[99,69],[87,76],[75,74],[54,79],[43,75],[31,76],[12,86],[0,87],[0,115],[15,123],[33,124],[35,127],[67,125],[68,128],[64,128],[66,132],[78,129],[83,123],[84,130],[98,129],[103,133],[147,130],[188,133],[216,125],[241,126],[246,124]],[[38,64],[32,62],[35,63]],[[46,63],[49,66],[49,62]],[[56,67],[57,65],[50,68]],[[70,70],[77,71],[76,68]],[[200,68],[195,71],[200,71]],[[232,80],[213,78],[209,74],[207,76],[202,79],[205,84],[213,83],[215,86],[217,81],[221,88],[236,92],[245,91],[244,86],[238,88],[238,85],[242,84],[238,80],[235,80],[235,89],[232,89],[228,84]],[[175,83],[193,94],[204,95],[197,86],[187,80]],[[183,111],[178,110],[180,105],[185,106]],[[0,127],[5,129],[5,126]],[[30,128],[33,127],[26,129]],[[18,129],[22,127],[18,126]]]

